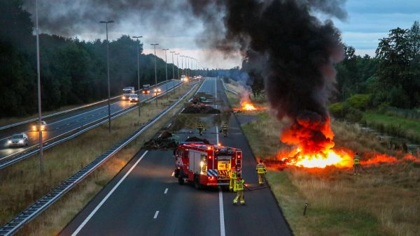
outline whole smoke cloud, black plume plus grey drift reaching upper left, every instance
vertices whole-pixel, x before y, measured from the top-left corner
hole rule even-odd
[[[200,25],[204,32],[197,37],[198,45],[225,57],[239,50],[244,59],[255,62],[250,67],[264,78],[276,116],[291,121],[283,142],[313,149],[333,145],[325,104],[334,91],[334,64],[342,60],[342,43],[332,21],[316,15],[346,19],[345,0],[39,2],[40,22],[55,34],[92,31],[99,20],[130,17],[146,19],[157,31],[179,32]],[[25,6],[33,9],[32,4],[27,1]],[[181,24],[173,25],[174,17],[181,17]]]

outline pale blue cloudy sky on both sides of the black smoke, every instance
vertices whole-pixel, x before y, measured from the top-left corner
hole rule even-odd
[[[151,9],[151,12],[148,11],[147,14],[118,14],[117,19],[112,19],[115,20],[115,23],[109,25],[109,38],[114,40],[123,34],[143,36],[144,38],[141,38],[141,42],[144,43],[145,54],[154,52],[151,43],[159,43],[158,47],[156,47],[156,55],[158,57],[165,59],[165,52],[162,49],[169,48],[169,51],[194,57],[199,61],[200,68],[232,68],[234,66],[241,66],[242,59],[239,52],[226,57],[221,53],[211,50],[211,48],[206,48],[197,43],[197,40],[206,38],[209,35],[204,32],[200,20],[195,20],[193,17],[184,17],[182,15],[184,13],[176,13],[176,10],[172,10],[171,7],[174,7],[178,1],[182,0],[160,1],[162,3],[161,8],[167,7],[171,9],[165,10],[165,13],[162,13],[160,8],[155,8]],[[27,1],[27,8],[31,12],[33,8],[28,3],[30,1]],[[62,12],[66,14],[64,19],[70,18],[68,16],[69,10],[73,10],[71,12],[72,14],[79,14],[77,17],[79,22],[79,18],[83,19],[83,17],[89,17],[90,19],[86,20],[98,22],[102,16],[94,14],[92,16],[91,9],[83,9],[83,3],[83,1],[73,1],[73,4],[66,8],[70,4],[67,0],[53,1],[53,3],[49,0],[38,0],[38,4],[41,4],[41,9],[43,7],[48,8],[51,4],[59,5],[53,8],[47,16],[52,19],[52,22],[59,22],[59,20],[54,20],[55,17],[61,20],[62,18],[59,17],[62,17],[60,15]],[[146,4],[148,1],[141,0],[141,3]],[[61,12],[57,9],[65,10]],[[345,20],[335,18],[332,20],[342,32],[343,42],[346,45],[355,47],[356,54],[360,55],[369,54],[370,56],[374,56],[374,50],[377,48],[379,38],[386,37],[390,29],[396,27],[407,29],[411,27],[415,20],[420,20],[420,0],[347,0],[344,9],[348,14]],[[160,14],[162,14],[162,19],[160,19]],[[41,32],[43,31],[42,20],[41,15]],[[106,19],[101,18],[100,20]],[[69,27],[70,25],[71,27]],[[70,23],[67,26],[69,29],[66,29],[65,25],[60,24],[56,29],[45,32],[50,34],[68,34],[69,32],[76,31],[75,34],[71,33],[70,35],[64,36],[77,37],[83,40],[94,40],[97,38],[104,40],[106,38],[103,24],[89,23],[88,25],[88,30],[86,30],[85,26],[77,30],[78,25],[74,26]],[[170,53],[167,54],[167,61],[172,63],[172,55]],[[179,66],[181,66],[182,62],[185,64],[185,59],[182,61],[181,57],[179,57]],[[176,57],[174,57],[174,63],[177,63]]]

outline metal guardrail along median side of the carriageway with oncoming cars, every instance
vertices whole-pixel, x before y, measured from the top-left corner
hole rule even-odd
[[[174,90],[174,89],[176,89],[176,87],[179,87],[180,85],[182,84],[182,82],[180,82],[179,84],[176,84],[174,87],[172,87],[172,88],[170,88],[170,89],[168,89],[165,93],[162,93],[162,94],[159,94],[158,95],[158,98],[160,98],[161,96],[165,96],[165,94],[167,94],[167,93],[169,93],[170,91],[172,91],[172,90]],[[143,103],[150,103],[151,101],[153,101],[153,100],[155,100],[155,98],[156,98],[156,96],[152,96],[152,97],[150,97],[150,98],[147,98],[146,100],[144,100],[144,101],[142,101]],[[129,108],[125,108],[124,110],[120,110],[120,111],[118,111],[118,112],[114,112],[112,115],[111,115],[111,119],[116,119],[116,118],[118,118],[118,117],[120,117],[120,116],[122,116],[122,115],[125,115],[125,114],[127,114],[128,112],[131,112],[132,110],[135,110],[135,109],[137,109],[138,108],[138,105],[137,104],[135,104],[135,105],[132,105],[132,106],[130,106]],[[102,120],[102,121],[101,121]],[[99,123],[97,123],[97,122],[99,122]],[[96,128],[97,126],[100,126],[100,125],[102,125],[102,124],[104,124],[104,123],[106,123],[106,122],[108,122],[108,117],[102,117],[102,118],[100,118],[100,119],[97,119],[96,121],[92,121],[92,122],[90,122],[90,123],[88,123],[88,124],[85,124],[85,125],[83,125],[83,126],[80,126],[80,127],[78,127],[78,128],[74,128],[74,129],[72,129],[71,131],[67,131],[66,133],[62,133],[61,135],[58,135],[58,136],[56,136],[55,138],[51,138],[50,140],[45,140],[44,142],[45,142],[45,146],[43,147],[43,149],[45,150],[45,149],[49,149],[49,148],[51,148],[51,147],[54,147],[55,145],[59,145],[60,143],[62,143],[62,142],[66,142],[67,140],[71,140],[72,138],[75,138],[76,136],[78,136],[78,135],[80,135],[80,134],[82,134],[82,133],[85,133],[85,132],[87,132],[87,131],[90,131],[92,128]],[[96,123],[96,124],[95,124]],[[87,127],[87,128],[83,128],[83,127]],[[80,130],[80,128],[83,128],[82,130]],[[80,131],[78,131],[78,130],[80,130]],[[78,131],[77,133],[74,133],[74,134],[72,134],[72,135],[69,135],[69,133],[73,133],[74,131]],[[64,136],[64,135],[69,135],[69,136],[67,136],[66,138],[63,138],[63,139],[60,139],[60,140],[57,140],[57,141],[55,141],[55,142],[52,142],[52,143],[50,143],[50,144],[47,144],[48,142],[50,142],[51,140],[55,140],[55,139],[57,139],[57,138],[59,138],[59,137],[62,137],[62,136]],[[7,159],[5,159],[4,161],[0,161],[0,170],[1,169],[3,169],[3,168],[6,168],[6,167],[8,167],[9,165],[13,165],[14,163],[18,163],[19,161],[22,161],[22,160],[24,160],[24,159],[26,159],[26,158],[28,158],[29,156],[32,156],[32,155],[34,155],[34,154],[37,154],[39,152],[39,149],[38,148],[36,148],[36,149],[33,149],[33,150],[31,150],[31,151],[29,151],[29,152],[26,152],[26,153],[24,153],[24,154],[20,154],[20,155],[18,155],[18,156],[13,156],[13,157],[10,157],[10,158],[7,158]]]

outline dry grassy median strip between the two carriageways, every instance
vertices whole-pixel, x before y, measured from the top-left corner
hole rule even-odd
[[[189,86],[177,89],[176,94],[169,96],[169,100],[166,100],[165,96],[160,98],[158,107],[155,106],[155,102],[144,105],[141,109],[141,117],[138,116],[138,110],[134,110],[113,120],[111,133],[108,133],[108,125],[105,124],[83,133],[78,138],[46,150],[44,153],[44,175],[38,171],[36,156],[2,170],[0,172],[2,180],[0,183],[0,224],[6,223],[22,209],[73,175],[74,172],[130,135],[138,128],[134,124],[137,122],[146,123],[158,115],[164,108],[176,101],[181,94],[185,94],[188,89],[190,89]],[[181,105],[182,103],[180,103]],[[174,108],[137,140],[134,140],[78,184],[55,205],[28,223],[18,235],[55,235],[59,233],[59,230],[130,161],[132,156],[139,151],[141,145],[172,118],[176,109],[178,108]]]

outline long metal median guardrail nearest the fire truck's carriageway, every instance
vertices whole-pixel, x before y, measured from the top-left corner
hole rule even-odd
[[[76,174],[74,174],[69,179],[64,181],[62,184],[57,186],[55,189],[50,191],[50,193],[46,194],[45,196],[40,198],[38,201],[36,201],[34,205],[31,205],[30,207],[25,209],[23,212],[18,214],[18,216],[16,216],[15,219],[12,219],[8,223],[6,223],[4,226],[1,226],[0,236],[13,235],[25,223],[28,223],[29,221],[34,219],[36,216],[38,216],[38,214],[41,214],[43,211],[45,211],[45,209],[50,207],[52,203],[59,200],[59,198],[64,196],[65,193],[73,189],[73,187],[76,186],[76,184],[78,184],[83,179],[85,179],[87,175],[90,175],[90,173],[92,173],[94,170],[99,168],[99,166],[105,163],[109,158],[111,158],[111,156],[115,155],[118,151],[120,151],[120,149],[123,149],[123,147],[127,146],[130,142],[132,142],[132,140],[136,139],[137,137],[139,137],[139,135],[141,135],[141,133],[146,131],[147,128],[155,124],[156,121],[158,121],[160,118],[166,115],[167,112],[175,108],[176,105],[178,105],[184,98],[186,98],[186,96],[188,96],[188,94],[190,94],[191,91],[193,91],[193,89],[195,89],[195,87],[197,87],[197,84],[195,84],[186,94],[184,94],[181,98],[179,98],[179,100],[176,101],[176,103],[174,103],[169,108],[166,108],[165,110],[160,112],[160,114],[155,116],[154,119],[151,119],[151,121],[148,121],[146,124],[138,128],[137,131],[134,131],[132,135],[125,138],[125,140],[121,141],[120,143],[118,143],[117,145],[109,149],[108,151],[104,152],[104,154],[97,157],[89,165],[86,165],[85,168],[83,168],[82,170],[79,170],[78,172],[76,172]]]

